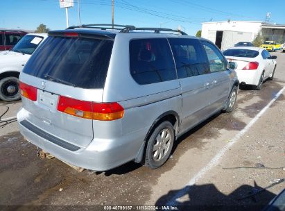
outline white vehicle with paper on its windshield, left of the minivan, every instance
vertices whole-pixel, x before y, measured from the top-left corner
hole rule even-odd
[[[0,99],[20,99],[19,74],[37,47],[46,39],[46,33],[26,34],[10,51],[0,51]]]

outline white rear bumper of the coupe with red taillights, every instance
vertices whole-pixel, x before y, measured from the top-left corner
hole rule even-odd
[[[259,70],[236,70],[236,76],[239,79],[239,83],[245,83],[247,85],[258,85],[259,83]]]

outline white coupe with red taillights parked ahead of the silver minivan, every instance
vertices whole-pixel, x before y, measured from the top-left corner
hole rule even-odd
[[[254,85],[261,90],[266,79],[273,80],[277,56],[258,47],[233,47],[223,52],[229,62],[236,62],[236,75],[241,85]]]

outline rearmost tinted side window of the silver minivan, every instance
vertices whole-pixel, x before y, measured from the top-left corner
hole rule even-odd
[[[166,38],[131,40],[130,74],[140,85],[176,79],[173,56]]]

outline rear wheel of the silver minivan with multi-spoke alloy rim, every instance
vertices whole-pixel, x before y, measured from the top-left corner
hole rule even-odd
[[[167,133],[163,133],[163,131],[167,131]],[[165,137],[167,137],[167,134],[169,134],[169,141],[163,144],[163,139],[161,139],[161,142],[159,142],[159,140],[157,140],[157,137],[160,136],[161,138],[164,134],[166,134]],[[148,139],[148,143],[146,145],[145,165],[147,167],[150,167],[150,169],[157,169],[158,167],[161,167],[171,154],[174,139],[175,135],[172,124],[169,121],[163,121],[161,124],[159,124]],[[165,140],[167,140],[167,138]],[[154,149],[154,146],[158,148],[156,151]],[[167,146],[167,150],[164,149],[164,146]],[[159,152],[163,154],[161,157],[161,153]],[[158,158],[155,158],[157,154],[159,154]]]

